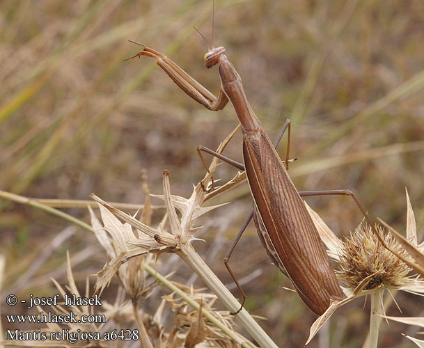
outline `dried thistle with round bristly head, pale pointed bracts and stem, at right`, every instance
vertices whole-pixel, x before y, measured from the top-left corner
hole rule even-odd
[[[369,294],[371,310],[368,347],[377,347],[379,324],[381,318],[384,317],[382,305],[384,290],[403,290],[423,296],[424,281],[419,275],[422,274],[421,269],[424,265],[424,242],[418,245],[414,214],[408,196],[407,207],[407,239],[403,237],[402,239],[397,235],[395,235],[397,240],[391,235],[381,237],[383,230],[379,228],[382,238],[382,240],[379,240],[372,233],[370,226],[362,228],[361,225],[356,228],[355,232],[351,233],[350,237],[345,238],[344,242],[338,239],[320,216],[308,207],[309,214],[311,214],[315,226],[317,226],[320,237],[327,246],[329,256],[340,264],[338,274],[340,280],[346,285],[342,289],[347,298],[332,303],[327,311],[315,320],[306,344],[312,340],[337,308],[357,297]],[[394,234],[393,228],[390,228],[386,223],[384,223],[384,226]],[[386,247],[383,246],[382,242]],[[416,274],[408,276],[411,269],[414,269]]]

